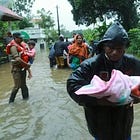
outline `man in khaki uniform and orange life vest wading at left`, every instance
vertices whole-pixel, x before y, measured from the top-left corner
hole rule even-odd
[[[19,88],[21,88],[23,99],[29,98],[29,91],[26,85],[26,71],[29,70],[31,66],[28,63],[28,57],[23,55],[23,52],[26,50],[26,44],[23,42],[22,34],[20,32],[13,33],[13,38],[14,39],[6,46],[7,54],[11,55],[11,73],[14,80],[14,87],[11,91],[9,103],[14,102]]]

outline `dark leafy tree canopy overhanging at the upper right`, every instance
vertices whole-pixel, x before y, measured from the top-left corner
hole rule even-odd
[[[119,20],[126,30],[138,23],[140,0],[68,0],[77,25],[91,25],[106,19]]]

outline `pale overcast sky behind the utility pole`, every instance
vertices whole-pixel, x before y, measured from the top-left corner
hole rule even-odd
[[[32,13],[36,14],[37,10],[44,8],[47,11],[51,11],[52,16],[55,20],[56,28],[57,28],[57,12],[56,6],[58,5],[59,12],[59,23],[60,25],[64,25],[66,30],[72,31],[77,29],[86,29],[85,26],[77,26],[73,21],[73,15],[71,13],[72,6],[67,0],[35,0],[32,8]]]

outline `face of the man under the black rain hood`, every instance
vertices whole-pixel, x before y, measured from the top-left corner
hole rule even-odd
[[[111,61],[118,61],[121,59],[123,54],[125,53],[125,46],[113,46],[113,47],[104,47],[105,54]]]

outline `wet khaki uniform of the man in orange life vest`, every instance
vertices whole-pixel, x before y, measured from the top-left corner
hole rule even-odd
[[[13,80],[14,80],[14,87],[11,92],[9,103],[14,102],[19,88],[21,88],[21,93],[22,93],[23,99],[29,98],[28,87],[26,85],[26,66],[27,66],[27,64],[23,65],[23,63],[21,63],[20,61],[17,61],[17,59],[16,59],[16,58],[20,57],[20,58],[24,58],[22,60],[25,60],[25,57],[21,57],[21,55],[20,55],[20,52],[23,50],[24,50],[24,48],[21,48],[21,46],[19,46],[19,45],[17,46],[15,44],[12,44],[9,47],[9,52],[12,57],[11,73],[13,75]]]

